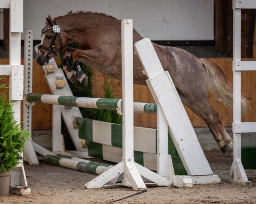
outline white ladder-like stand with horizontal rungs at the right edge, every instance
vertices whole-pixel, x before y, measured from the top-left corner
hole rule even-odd
[[[241,122],[241,71],[256,71],[256,61],[241,61],[241,9],[256,9],[255,0],[233,0],[233,164],[230,178],[250,186],[241,162],[241,133],[255,133],[256,122]]]

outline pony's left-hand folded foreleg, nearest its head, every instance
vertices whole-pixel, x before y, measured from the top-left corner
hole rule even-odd
[[[63,49],[63,70],[65,71],[67,78],[70,80],[71,83],[76,82],[76,77],[74,76],[74,71],[72,70],[70,56],[75,51],[75,48],[66,47]]]

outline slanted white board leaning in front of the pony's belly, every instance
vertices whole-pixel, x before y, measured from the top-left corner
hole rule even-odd
[[[148,76],[146,80],[148,87],[155,102],[159,103],[163,110],[172,141],[186,172],[190,176],[212,175],[211,167],[201,149],[175,85],[169,72],[163,70],[151,40],[144,38],[135,43],[135,48]]]

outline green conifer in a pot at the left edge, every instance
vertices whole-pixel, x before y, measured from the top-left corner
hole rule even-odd
[[[0,88],[8,88],[0,85]],[[21,129],[12,111],[12,104],[7,101],[6,93],[0,94],[0,196],[9,195],[12,169],[20,163],[25,140],[29,131]]]

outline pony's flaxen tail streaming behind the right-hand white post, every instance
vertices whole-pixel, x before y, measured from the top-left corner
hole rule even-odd
[[[207,59],[200,59],[204,65],[207,76],[207,88],[215,99],[218,99],[230,110],[233,109],[233,87],[227,81],[224,70],[216,63]],[[249,107],[249,102],[244,94],[241,95],[241,112],[245,113]]]

